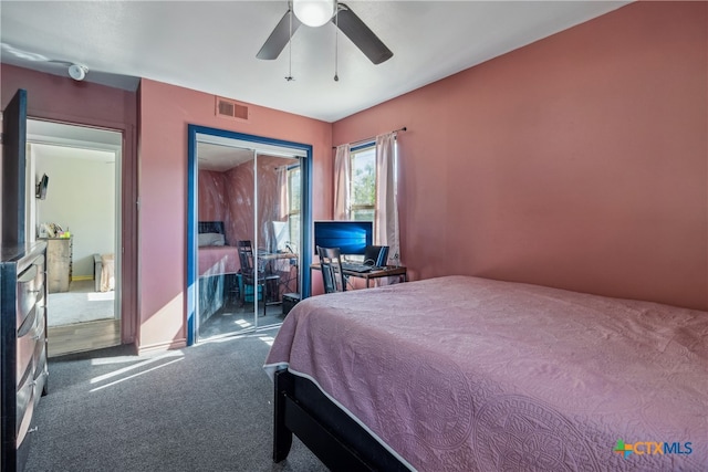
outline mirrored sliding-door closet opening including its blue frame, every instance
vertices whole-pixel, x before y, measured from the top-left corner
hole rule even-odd
[[[279,325],[309,293],[311,153],[189,126],[189,345]]]

